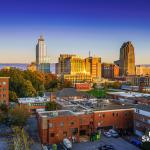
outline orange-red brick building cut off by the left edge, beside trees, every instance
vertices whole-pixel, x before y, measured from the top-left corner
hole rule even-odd
[[[9,104],[9,77],[0,77],[0,103]]]

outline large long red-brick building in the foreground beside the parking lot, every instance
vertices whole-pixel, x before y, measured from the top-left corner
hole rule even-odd
[[[70,110],[38,112],[39,135],[43,144],[62,142],[64,138],[80,142],[98,129],[132,129],[132,108],[75,113]]]

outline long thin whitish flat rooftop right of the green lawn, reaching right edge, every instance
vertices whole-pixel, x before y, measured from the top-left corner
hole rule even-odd
[[[138,93],[138,92],[107,92],[110,95],[117,95],[126,98],[134,98],[134,97],[150,97],[150,94]]]

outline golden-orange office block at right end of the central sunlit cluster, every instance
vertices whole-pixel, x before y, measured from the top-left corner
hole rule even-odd
[[[98,81],[101,79],[101,58],[88,57],[85,59],[85,70],[89,72],[93,80]]]

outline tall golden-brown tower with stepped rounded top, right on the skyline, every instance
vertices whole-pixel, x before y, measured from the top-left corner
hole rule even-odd
[[[123,43],[120,48],[120,76],[135,75],[134,47],[130,41]]]

